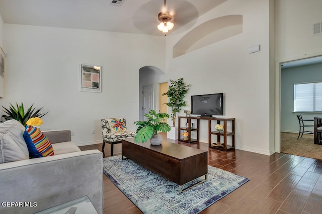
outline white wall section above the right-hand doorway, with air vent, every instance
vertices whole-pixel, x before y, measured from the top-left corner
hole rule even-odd
[[[322,34],[312,36],[322,21],[321,0],[276,1],[276,60],[288,61],[322,54]]]

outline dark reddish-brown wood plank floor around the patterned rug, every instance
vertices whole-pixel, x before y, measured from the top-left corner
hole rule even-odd
[[[170,140],[178,143],[178,141]],[[208,150],[208,164],[250,178],[250,181],[201,213],[322,213],[322,161],[275,153],[271,156],[234,150],[209,149],[206,143],[186,146]],[[82,146],[99,149],[102,144]],[[110,145],[104,153],[110,156]],[[114,155],[121,144],[114,145]],[[104,213],[142,213],[104,176]]]

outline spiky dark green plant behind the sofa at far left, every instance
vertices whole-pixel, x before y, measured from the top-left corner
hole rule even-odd
[[[48,113],[48,112],[40,113],[40,111],[43,109],[43,107],[39,108],[38,110],[35,111],[35,108],[32,108],[34,104],[32,104],[26,112],[25,112],[23,103],[21,103],[21,105],[18,105],[18,103],[16,103],[17,107],[13,106],[11,103],[10,103],[10,105],[11,106],[9,107],[9,109],[2,106],[5,109],[4,112],[7,114],[7,115],[3,114],[2,116],[6,120],[11,120],[11,119],[18,120],[24,126],[26,126],[26,123],[29,118],[32,118],[32,117],[39,117],[40,118]]]

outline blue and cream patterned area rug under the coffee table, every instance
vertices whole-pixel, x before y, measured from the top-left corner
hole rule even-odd
[[[104,174],[143,213],[199,213],[248,178],[208,165],[208,180],[179,194],[179,185],[122,156],[103,159]],[[199,180],[198,180],[199,179]],[[183,189],[203,177],[185,184]]]

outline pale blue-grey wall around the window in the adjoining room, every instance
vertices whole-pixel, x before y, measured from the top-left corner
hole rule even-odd
[[[296,117],[297,114],[302,114],[303,119],[313,119],[313,117],[321,115],[318,113],[294,112],[294,84],[322,81],[321,71],[322,63],[282,69],[281,131],[298,133],[299,123]],[[310,125],[313,125],[313,122]],[[313,131],[313,128],[311,130]]]

